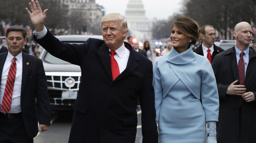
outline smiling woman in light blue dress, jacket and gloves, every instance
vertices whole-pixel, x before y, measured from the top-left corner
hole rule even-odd
[[[207,58],[192,51],[200,38],[198,23],[179,17],[174,24],[172,49],[154,62],[156,121],[160,143],[216,143],[219,96]],[[202,95],[202,104],[200,102]]]

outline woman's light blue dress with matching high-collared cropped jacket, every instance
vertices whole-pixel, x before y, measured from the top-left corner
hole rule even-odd
[[[205,121],[218,121],[219,116],[218,89],[214,72],[208,59],[194,53],[192,47],[181,54],[172,47],[170,53],[160,56],[155,60],[153,73],[156,121],[159,121],[160,142],[164,140],[162,138],[166,136],[172,139],[172,141],[177,137],[177,135],[172,136],[168,134],[184,134],[182,136],[184,138],[188,137],[190,142],[193,141],[185,132],[201,134],[199,133],[200,130],[203,135],[206,135]],[[200,103],[200,91],[202,93],[203,105]],[[194,108],[194,110],[191,108]],[[198,116],[201,117],[196,119]],[[180,117],[185,119],[185,122],[184,120],[183,122],[179,122],[179,120],[182,120]],[[187,121],[188,124],[191,124],[191,122],[192,124],[199,122],[201,125],[193,125],[192,129],[186,129],[189,125],[183,124],[186,124]],[[170,125],[174,122],[176,124],[175,127],[177,127],[178,124],[177,130]],[[179,124],[182,124],[180,129]],[[168,127],[170,127],[170,129],[168,129]],[[181,130],[181,128],[183,130]],[[184,133],[182,133],[183,131]],[[162,137],[162,134],[165,136]],[[202,135],[198,138],[201,137]],[[168,142],[168,139],[165,140]],[[182,142],[182,140],[178,140]],[[196,139],[194,141],[197,142]]]

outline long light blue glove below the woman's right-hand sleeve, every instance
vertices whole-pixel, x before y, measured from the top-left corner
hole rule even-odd
[[[216,121],[207,121],[207,134],[208,139],[207,139],[207,143],[217,143],[217,139],[216,139]]]

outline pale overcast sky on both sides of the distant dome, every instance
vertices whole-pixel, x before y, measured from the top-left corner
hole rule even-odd
[[[129,0],[95,0],[95,3],[105,8],[105,14],[121,13],[125,15]],[[180,13],[181,0],[142,0],[146,17],[158,20],[167,19],[173,13]]]

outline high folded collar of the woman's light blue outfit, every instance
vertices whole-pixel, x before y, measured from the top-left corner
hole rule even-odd
[[[168,54],[168,62],[173,64],[187,64],[196,59],[196,54],[192,50],[192,46],[183,53],[178,53],[174,47],[172,47],[170,54]]]

